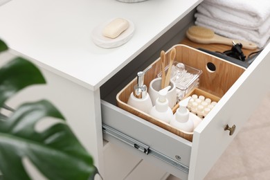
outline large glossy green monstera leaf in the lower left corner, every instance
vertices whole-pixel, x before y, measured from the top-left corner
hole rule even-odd
[[[21,105],[8,120],[0,120],[3,177],[30,179],[21,163],[23,157],[28,157],[48,179],[88,179],[97,173],[93,159],[68,125],[57,123],[43,132],[35,131],[35,124],[46,116],[64,122],[62,114],[46,100]]]

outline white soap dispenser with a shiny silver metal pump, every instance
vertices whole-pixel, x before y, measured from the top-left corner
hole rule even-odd
[[[152,109],[152,100],[147,93],[147,86],[144,84],[144,75],[151,69],[149,66],[145,71],[140,71],[137,73],[137,84],[134,86],[133,92],[130,94],[127,100],[127,105],[130,105],[140,111],[149,114]]]

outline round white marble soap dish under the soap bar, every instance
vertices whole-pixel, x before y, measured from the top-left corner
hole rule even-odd
[[[134,24],[132,23],[132,21],[129,20],[127,20],[129,22],[129,27],[118,37],[112,39],[102,35],[102,30],[105,28],[105,26],[107,26],[107,24],[109,24],[110,21],[106,21],[105,23],[100,24],[99,26],[93,29],[91,37],[93,42],[97,46],[100,46],[102,48],[116,48],[118,46],[125,44],[126,42],[129,41],[129,39],[132,38],[134,34]]]

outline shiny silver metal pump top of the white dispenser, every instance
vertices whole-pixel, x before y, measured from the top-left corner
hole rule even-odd
[[[137,84],[134,86],[133,94],[136,98],[142,99],[145,98],[147,94],[147,87],[144,84],[144,76],[147,71],[149,71],[152,66],[147,67],[144,71],[137,73]]]

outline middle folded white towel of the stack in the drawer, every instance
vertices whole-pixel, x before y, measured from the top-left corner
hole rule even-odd
[[[224,21],[229,25],[231,24],[231,26],[257,30],[260,35],[264,35],[264,33],[269,31],[270,28],[270,15],[267,18],[264,17],[264,21],[258,21],[256,17],[250,16],[246,13],[224,8],[223,6],[210,5],[208,3],[201,3],[197,7],[197,11],[211,19]]]

